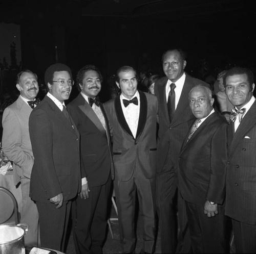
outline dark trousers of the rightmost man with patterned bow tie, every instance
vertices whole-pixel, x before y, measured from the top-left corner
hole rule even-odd
[[[232,219],[236,253],[256,253],[256,225]]]

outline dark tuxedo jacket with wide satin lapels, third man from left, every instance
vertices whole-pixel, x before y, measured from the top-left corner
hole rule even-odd
[[[67,106],[80,133],[81,176],[87,177],[89,187],[105,184],[110,172],[114,179],[108,119],[102,104],[99,107],[105,119],[106,130],[80,93]]]

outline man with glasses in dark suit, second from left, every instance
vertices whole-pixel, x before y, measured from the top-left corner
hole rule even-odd
[[[63,251],[71,199],[81,189],[79,133],[64,103],[74,82],[60,63],[46,70],[45,82],[49,92],[29,118],[35,158],[30,197],[39,213],[41,246]]]

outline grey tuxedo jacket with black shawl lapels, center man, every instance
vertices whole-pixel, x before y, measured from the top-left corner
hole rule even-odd
[[[139,95],[140,114],[135,138],[125,120],[120,95],[104,103],[113,135],[113,159],[117,181],[129,181],[135,168],[140,170],[146,179],[156,175],[157,97],[141,91]]]

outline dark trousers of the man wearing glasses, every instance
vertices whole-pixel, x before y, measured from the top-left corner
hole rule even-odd
[[[39,214],[41,247],[64,251],[71,201],[56,209],[52,203],[36,202]]]

